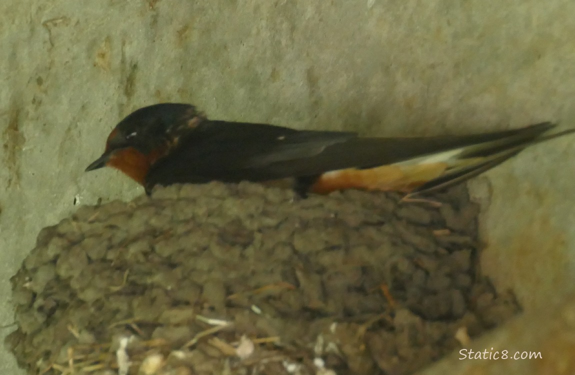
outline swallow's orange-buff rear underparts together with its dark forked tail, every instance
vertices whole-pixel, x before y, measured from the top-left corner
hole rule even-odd
[[[531,144],[575,132],[568,129],[547,134],[555,124],[540,123],[517,131],[478,136],[477,142],[462,137],[461,146],[444,148],[369,169],[336,170],[321,175],[312,191],[327,193],[345,188],[395,190],[415,194],[446,189],[475,177],[517,155]]]

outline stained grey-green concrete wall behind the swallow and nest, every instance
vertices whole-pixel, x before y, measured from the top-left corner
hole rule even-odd
[[[140,106],[372,135],[575,125],[569,0],[5,0],[0,14],[5,324],[8,279],[40,228],[141,193],[115,171],[83,173]],[[471,184],[488,207],[484,271],[526,309],[575,285],[574,144],[534,147]],[[19,373],[6,351],[0,373]]]

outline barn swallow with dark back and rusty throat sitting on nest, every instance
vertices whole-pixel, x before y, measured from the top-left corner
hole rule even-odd
[[[275,125],[209,120],[188,104],[156,104],[129,114],[86,171],[114,167],[144,186],[289,179],[302,196],[342,189],[412,196],[444,189],[575,132],[555,124],[463,136],[359,137]]]

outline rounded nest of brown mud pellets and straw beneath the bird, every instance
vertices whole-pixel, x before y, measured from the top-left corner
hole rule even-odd
[[[408,374],[517,311],[477,205],[171,186],[44,228],[13,278],[30,374]]]

